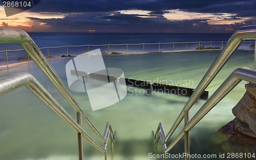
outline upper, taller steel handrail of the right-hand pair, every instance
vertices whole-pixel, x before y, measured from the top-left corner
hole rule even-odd
[[[187,126],[189,124],[190,127],[194,127],[194,125],[191,125],[191,121],[188,120],[188,111],[195,104],[195,102],[198,100],[198,98],[203,93],[203,91],[208,87],[212,79],[215,78],[215,76],[219,73],[219,71],[226,64],[229,58],[233,55],[233,53],[238,49],[238,47],[246,39],[256,39],[256,25],[244,26],[230,37],[230,39],[222,49],[222,52],[220,53],[220,55],[217,57],[214,63],[212,63],[211,67],[208,69],[208,71],[202,78],[201,82],[199,83],[199,85],[197,86],[197,88],[195,89],[191,97],[186,102],[184,108],[179,114],[173,127],[169,130],[168,134],[166,135],[164,142],[167,142],[169,140],[169,138],[173,135],[174,131],[177,129],[178,125],[181,123],[183,119],[185,119],[184,126]],[[196,115],[198,116],[198,114]],[[181,138],[185,137],[185,152],[189,153],[188,132],[191,129],[190,127],[184,128],[186,130],[183,129],[179,134],[179,136],[173,141],[172,146],[167,147],[165,151],[169,151],[170,148],[173,147],[173,145],[175,145]],[[157,131],[159,131],[159,129]],[[157,137],[157,134],[158,132],[156,132],[156,135],[154,138]]]

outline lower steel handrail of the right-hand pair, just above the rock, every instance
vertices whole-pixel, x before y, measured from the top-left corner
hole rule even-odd
[[[234,70],[222,85],[210,96],[210,98],[203,104],[198,112],[187,122],[179,135],[166,147],[166,144],[162,137],[163,126],[159,123],[154,139],[157,145],[160,137],[162,139],[164,153],[170,151],[186,134],[189,132],[209,111],[214,108],[234,87],[236,87],[242,80],[256,84],[256,70],[251,68],[238,68]],[[160,131],[161,129],[161,131]],[[189,141],[185,142],[185,148],[188,148],[186,153],[189,153]],[[188,155],[188,154],[187,154]],[[186,159],[189,159],[186,157]]]

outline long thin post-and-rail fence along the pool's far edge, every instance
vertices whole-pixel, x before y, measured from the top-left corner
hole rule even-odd
[[[86,44],[86,45],[63,45],[40,47],[42,54],[47,59],[72,57],[80,55],[84,52],[100,48],[103,55],[131,55],[131,54],[150,54],[178,51],[194,51],[194,50],[214,50],[222,49],[227,41],[197,41],[197,42],[168,42],[168,43],[126,43],[126,44]],[[240,49],[254,49],[255,41],[244,41]],[[6,68],[10,64],[30,61],[24,49],[5,49],[0,50],[2,54],[0,63]],[[3,63],[5,61],[5,64]]]

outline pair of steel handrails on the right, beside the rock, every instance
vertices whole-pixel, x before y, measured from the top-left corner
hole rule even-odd
[[[211,83],[212,79],[219,73],[222,67],[226,64],[228,59],[238,49],[238,47],[246,39],[256,39],[256,25],[249,25],[240,28],[235,32],[228,40],[225,47],[222,49],[220,55],[212,63],[201,82],[195,89],[194,93],[190,96],[186,102],[184,108],[180,112],[172,128],[170,128],[168,134],[165,134],[162,123],[159,123],[156,133],[154,135],[156,149],[158,149],[158,141],[161,138],[163,146],[163,154],[169,152],[183,137],[184,148],[186,155],[189,155],[189,131],[212,109],[217,105],[234,87],[236,87],[242,80],[256,84],[256,46],[254,50],[254,69],[251,68],[238,68],[234,70],[227,79],[221,84],[221,86],[215,91],[214,94],[203,104],[198,112],[189,120],[189,110],[198,100],[203,91]],[[166,142],[173,135],[178,125],[184,119],[184,127],[179,135],[168,145]],[[165,157],[164,157],[165,159]],[[185,156],[185,159],[190,159],[189,156]]]

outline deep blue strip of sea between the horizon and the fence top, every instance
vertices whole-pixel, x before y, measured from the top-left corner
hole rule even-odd
[[[227,41],[230,33],[28,33],[38,47],[84,45],[84,44],[124,44],[158,42]],[[8,47],[8,48],[7,48]],[[1,50],[17,49],[19,46],[2,45]]]

